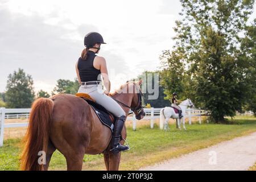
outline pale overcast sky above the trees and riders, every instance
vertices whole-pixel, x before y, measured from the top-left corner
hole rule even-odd
[[[33,77],[36,91],[51,92],[60,78],[74,80],[90,31],[108,43],[99,55],[117,88],[157,69],[159,55],[174,43],[172,27],[180,10],[179,0],[0,0],[0,92],[18,68]]]

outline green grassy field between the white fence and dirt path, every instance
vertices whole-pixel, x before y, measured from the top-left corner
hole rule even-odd
[[[186,131],[175,129],[175,125],[171,125],[170,132],[159,130],[156,124],[154,129],[150,129],[149,125],[141,125],[137,131],[128,126],[127,141],[131,150],[122,154],[120,169],[136,170],[255,131],[256,118],[252,117],[233,118],[233,121],[226,125],[187,125]],[[0,148],[0,170],[19,169],[20,140],[5,140]],[[60,152],[53,154],[49,169],[66,169],[65,158]],[[102,155],[85,155],[83,169],[105,170]]]

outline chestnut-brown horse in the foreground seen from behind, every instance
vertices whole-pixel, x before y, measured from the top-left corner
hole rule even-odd
[[[112,98],[122,106],[126,116],[132,109],[137,119],[142,119],[145,115],[141,106],[140,84],[141,81],[129,82],[112,94]],[[126,139],[125,127],[122,138]],[[21,158],[22,170],[47,170],[56,149],[65,156],[68,170],[81,170],[85,154],[102,153],[107,170],[119,168],[121,154],[114,155],[109,151],[111,131],[102,125],[86,101],[71,94],[58,94],[52,98],[36,100],[32,105],[24,139],[26,143]],[[39,151],[46,152],[44,164],[38,162]]]

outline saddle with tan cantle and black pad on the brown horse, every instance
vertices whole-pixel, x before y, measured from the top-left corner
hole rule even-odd
[[[101,123],[107,126],[113,133],[115,122],[114,115],[110,113],[108,110],[106,110],[105,107],[103,107],[102,105],[97,104],[95,100],[93,100],[93,98],[90,97],[89,94],[77,93],[76,96],[85,100],[92,107],[92,109],[98,116],[98,119],[100,119]]]

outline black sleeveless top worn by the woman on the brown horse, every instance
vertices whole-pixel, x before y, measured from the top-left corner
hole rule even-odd
[[[81,82],[87,81],[100,81],[101,71],[93,67],[93,60],[96,57],[93,51],[88,51],[86,60],[83,60],[81,57],[77,63],[77,68],[79,69],[79,76]]]

